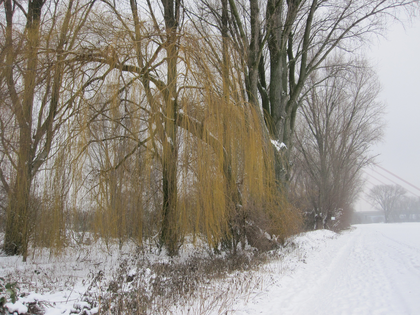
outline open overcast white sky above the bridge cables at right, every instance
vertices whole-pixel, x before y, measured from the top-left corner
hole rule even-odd
[[[405,31],[400,24],[394,24],[387,39],[380,39],[377,45],[367,51],[372,62],[378,64],[378,74],[383,85],[381,98],[388,105],[385,141],[376,146],[374,151],[381,154],[377,158],[380,165],[420,188],[420,21],[417,19]],[[375,170],[420,196],[420,191],[415,188],[380,168]],[[374,171],[366,171],[385,184],[393,184]],[[373,178],[369,178],[369,181],[381,184]],[[365,192],[372,186],[367,183]],[[360,199],[355,210],[373,209]]]

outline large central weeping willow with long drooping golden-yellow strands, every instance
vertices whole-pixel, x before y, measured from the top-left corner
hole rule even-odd
[[[92,47],[75,57],[107,74],[84,99],[80,134],[97,231],[120,244],[159,236],[170,254],[187,235],[236,250],[261,237],[263,221],[286,235],[296,215],[276,188],[260,110],[234,63],[207,53],[226,50],[223,39],[210,46],[181,24],[177,2],[163,2],[160,23],[150,3],[146,16],[134,1],[130,14],[105,7]]]

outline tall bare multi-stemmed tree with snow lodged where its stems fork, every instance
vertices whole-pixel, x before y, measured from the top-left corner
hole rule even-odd
[[[257,108],[261,105],[270,137],[285,144],[275,160],[276,177],[283,182],[289,180],[299,99],[311,73],[332,52],[357,50],[373,34],[383,34],[388,21],[398,19],[401,10],[408,16],[418,10],[418,2],[411,0],[228,3],[229,32],[223,22],[226,1],[221,2],[220,14],[220,4],[202,0],[196,16],[202,24],[211,25],[203,26],[203,32],[212,33],[213,27],[222,30],[242,56],[239,65],[248,101]]]

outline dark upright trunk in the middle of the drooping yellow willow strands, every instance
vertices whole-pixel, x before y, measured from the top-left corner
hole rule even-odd
[[[161,231],[160,231],[160,246],[165,246],[168,249],[169,255],[175,255],[178,249],[178,183],[177,183],[177,165],[178,165],[178,141],[177,128],[178,121],[178,105],[176,101],[176,78],[177,78],[177,61],[178,61],[178,21],[179,21],[179,0],[161,0],[163,5],[163,19],[165,21],[165,39],[163,45],[166,51],[167,63],[167,78],[168,81],[165,88],[160,92],[163,95],[163,104],[160,108],[155,107],[155,100],[150,93],[150,87],[147,76],[144,75],[143,86],[148,95],[150,105],[157,113],[163,111],[163,117],[157,118],[156,125],[158,125],[158,134],[162,144],[162,191],[163,202],[161,212]],[[140,67],[143,67],[142,47],[140,47],[140,21],[137,13],[136,0],[130,0],[131,12],[134,19],[134,27],[136,32],[136,50],[137,60]],[[152,10],[150,8],[150,10]],[[157,24],[156,24],[157,27]]]

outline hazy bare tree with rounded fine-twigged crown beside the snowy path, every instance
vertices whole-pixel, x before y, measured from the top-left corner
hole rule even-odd
[[[302,98],[296,136],[295,182],[309,199],[315,228],[325,228],[331,217],[349,219],[362,188],[360,170],[372,163],[370,146],[384,127],[373,69],[342,57],[324,66],[308,80],[312,89]]]

